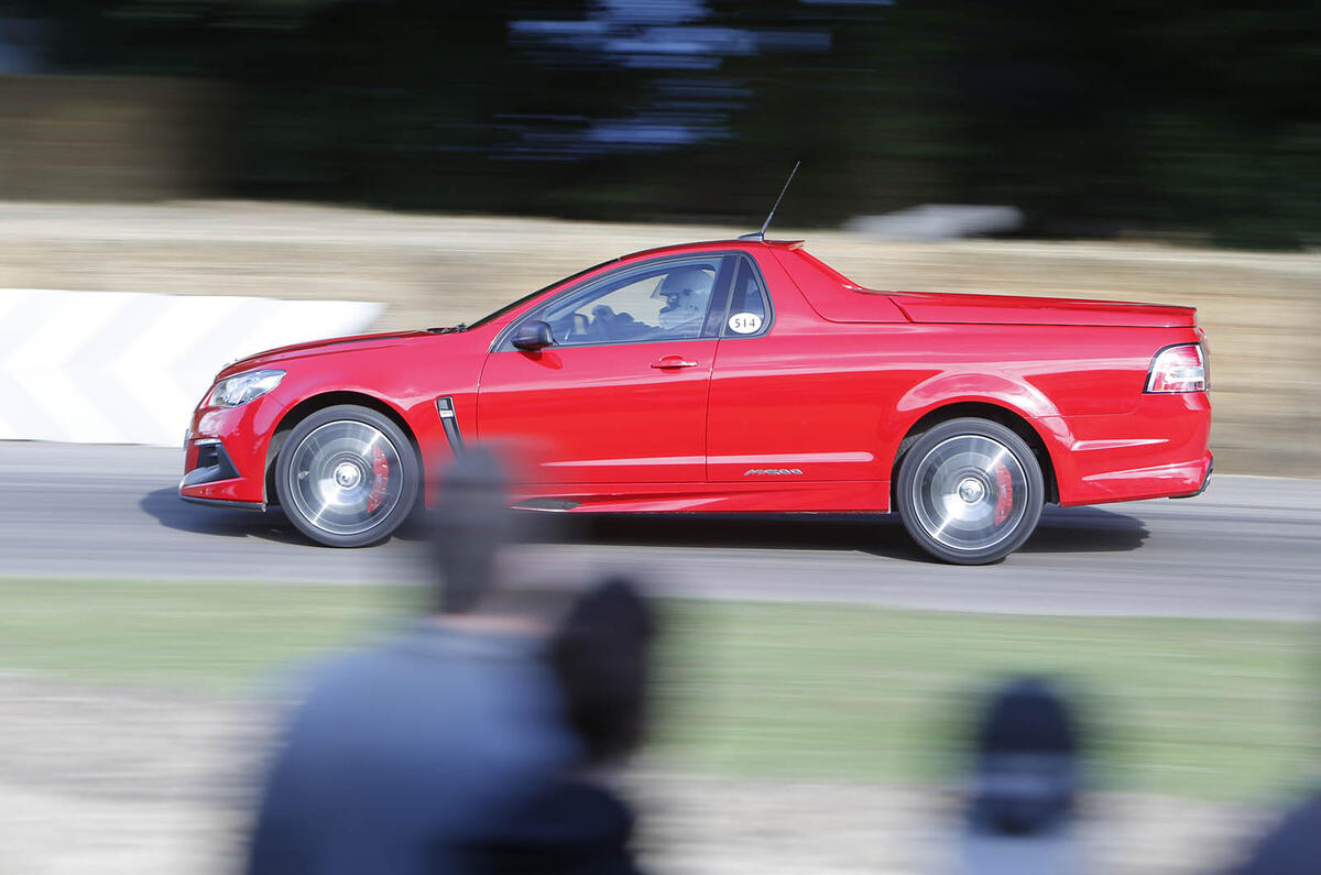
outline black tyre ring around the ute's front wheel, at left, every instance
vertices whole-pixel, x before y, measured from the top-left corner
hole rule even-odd
[[[403,468],[402,475],[404,478],[404,486],[399,496],[399,502],[390,510],[390,513],[367,531],[353,535],[334,534],[314,526],[299,512],[297,506],[289,500],[288,494],[289,465],[292,464],[295,448],[301,444],[309,434],[321,426],[343,420],[361,422],[383,434],[386,439],[394,444],[395,452],[399,455],[399,463]],[[371,410],[370,407],[359,407],[357,404],[336,404],[334,407],[325,407],[305,418],[293,427],[292,432],[289,432],[289,438],[280,447],[280,453],[275,460],[275,490],[276,496],[280,498],[280,506],[284,510],[284,515],[288,517],[289,522],[292,522],[299,531],[328,547],[366,547],[388,538],[412,513],[413,505],[417,501],[417,488],[420,481],[421,467],[417,463],[417,453],[413,449],[412,441],[408,440],[408,436],[403,432],[403,430],[384,414]]]

